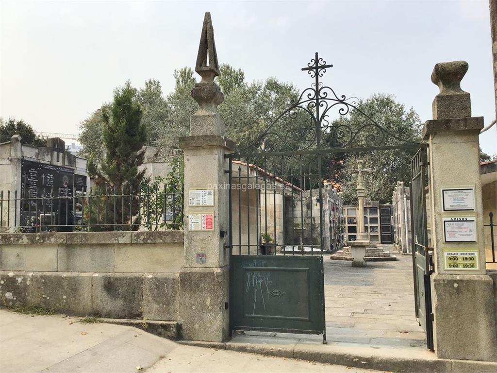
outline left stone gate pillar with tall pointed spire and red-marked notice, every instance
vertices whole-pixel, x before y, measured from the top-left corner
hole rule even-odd
[[[217,106],[224,95],[214,83],[219,75],[210,13],[205,14],[195,71],[202,81],[191,91],[198,110],[190,119],[184,149],[184,265],[179,273],[179,321],[187,340],[222,342],[229,334],[229,229],[227,152]]]

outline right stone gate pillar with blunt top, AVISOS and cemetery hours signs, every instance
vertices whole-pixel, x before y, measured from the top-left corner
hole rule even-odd
[[[438,63],[431,80],[440,88],[429,144],[435,352],[439,358],[497,360],[496,309],[485,268],[478,135],[483,117],[471,116],[470,94],[460,82],[465,61]]]

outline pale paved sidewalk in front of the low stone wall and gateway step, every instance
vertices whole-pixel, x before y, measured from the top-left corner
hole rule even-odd
[[[137,369],[140,368],[140,369]],[[178,344],[137,328],[0,310],[1,373],[374,373]]]

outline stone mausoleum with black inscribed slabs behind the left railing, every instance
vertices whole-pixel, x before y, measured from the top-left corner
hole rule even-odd
[[[0,231],[24,227],[23,231],[40,231],[37,226],[50,226],[50,221],[66,219],[71,225],[81,221],[82,204],[61,199],[52,207],[38,200],[23,203],[21,198],[49,198],[86,194],[89,177],[86,159],[66,150],[60,138],[47,139],[46,146],[34,147],[21,143],[20,135],[0,144]],[[12,201],[9,202],[8,200]],[[57,199],[53,199],[58,201]],[[3,227],[3,228],[2,228]],[[43,231],[43,229],[42,229]]]

